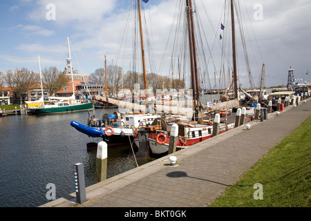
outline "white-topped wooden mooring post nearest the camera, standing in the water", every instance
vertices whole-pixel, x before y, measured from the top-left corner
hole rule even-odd
[[[95,182],[106,180],[107,177],[107,144],[102,141],[97,144]]]

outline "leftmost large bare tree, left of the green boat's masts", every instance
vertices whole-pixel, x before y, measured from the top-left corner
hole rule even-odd
[[[27,93],[28,88],[39,80],[39,75],[28,70],[27,68],[17,68],[14,72],[12,70],[8,70],[6,72],[6,76],[4,76],[4,79],[6,84],[21,100],[21,95]]]

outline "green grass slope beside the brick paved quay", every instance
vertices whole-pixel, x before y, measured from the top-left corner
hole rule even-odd
[[[311,117],[274,146],[211,207],[310,207]],[[254,184],[263,187],[263,200],[254,200]]]

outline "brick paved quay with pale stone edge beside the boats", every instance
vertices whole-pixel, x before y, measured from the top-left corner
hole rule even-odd
[[[276,146],[311,115],[310,99],[264,122],[251,122],[205,142],[178,151],[176,166],[169,156],[139,166],[86,188],[82,205],[75,193],[43,207],[204,207],[236,183],[270,148]]]

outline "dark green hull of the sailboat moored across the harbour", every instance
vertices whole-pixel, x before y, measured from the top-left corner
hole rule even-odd
[[[84,104],[73,104],[70,106],[59,106],[52,108],[36,108],[32,112],[35,115],[52,115],[58,113],[74,113],[79,111],[91,111],[93,110],[93,104],[91,102]]]

